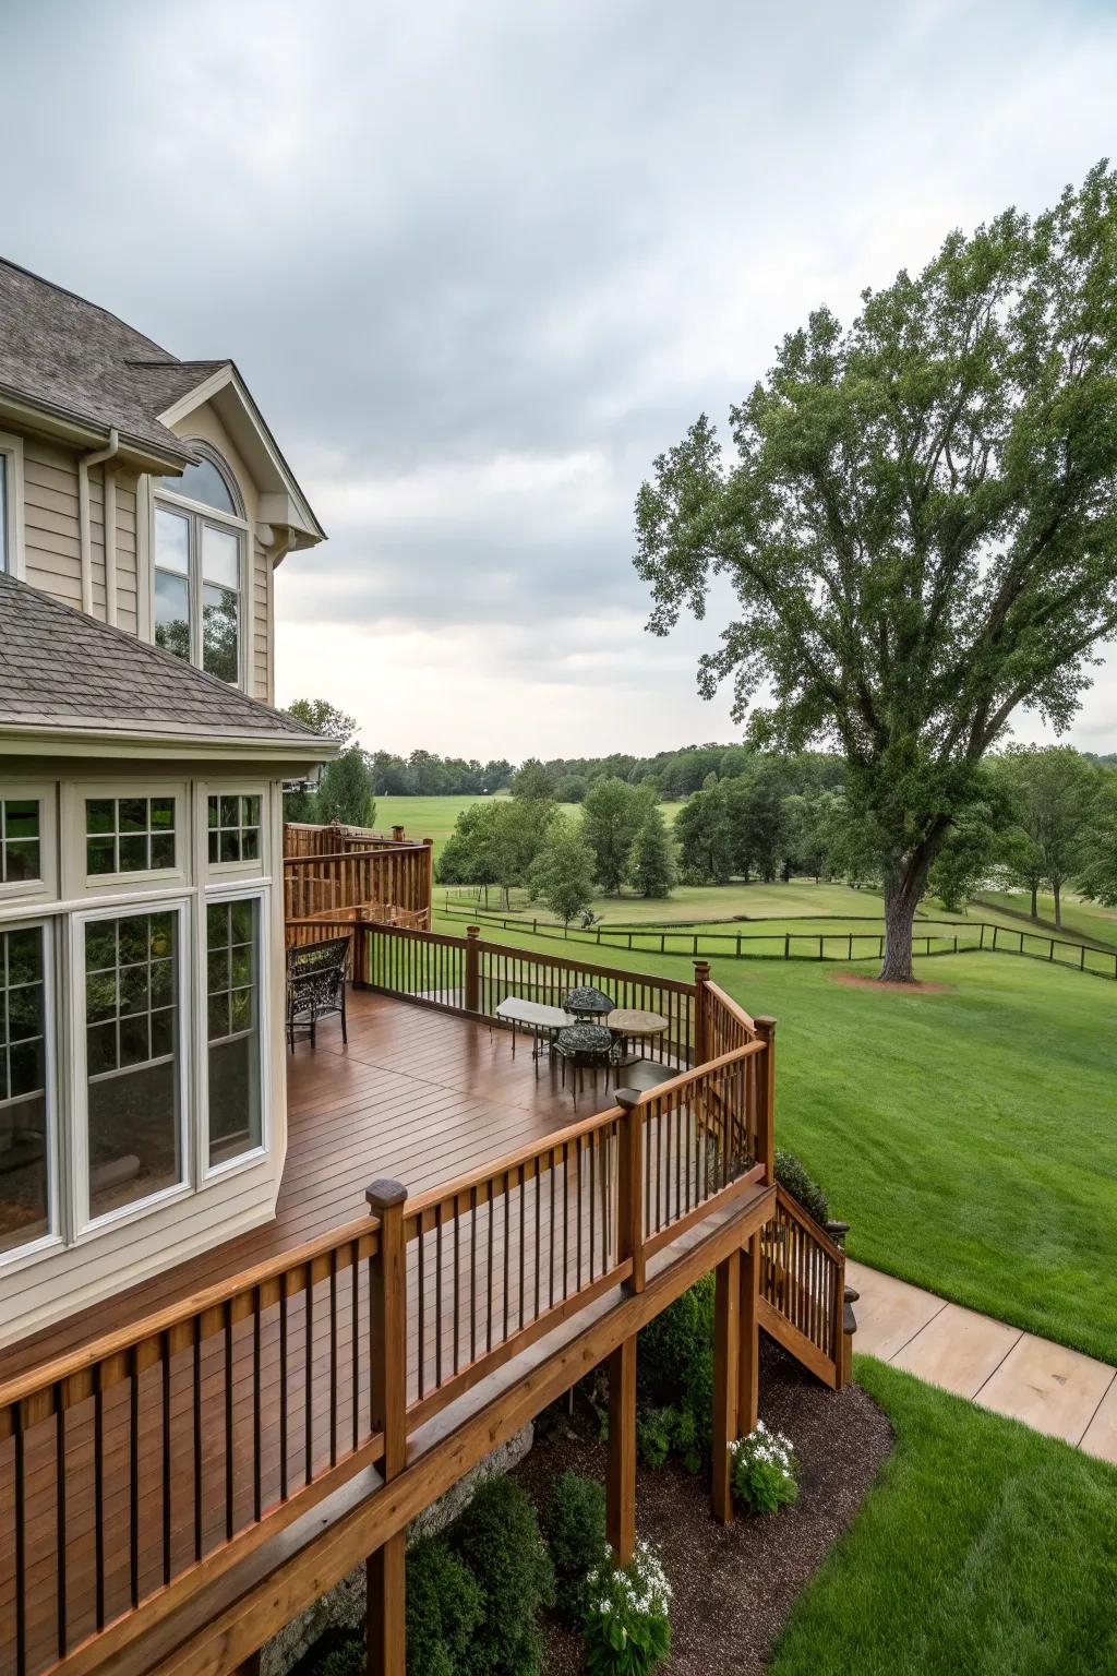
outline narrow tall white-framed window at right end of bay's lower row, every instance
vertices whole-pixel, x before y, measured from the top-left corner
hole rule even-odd
[[[203,1173],[266,1146],[265,977],[266,912],[261,892],[209,895],[206,937],[206,1111]]]

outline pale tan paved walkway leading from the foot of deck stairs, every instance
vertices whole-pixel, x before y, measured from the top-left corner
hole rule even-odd
[[[1117,1368],[849,1259],[854,1349],[1117,1463]]]

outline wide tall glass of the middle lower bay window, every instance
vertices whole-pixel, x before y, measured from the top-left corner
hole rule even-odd
[[[183,1177],[176,945],[172,913],[129,913],[85,925],[92,1217]],[[97,967],[104,960],[111,962],[107,970]]]

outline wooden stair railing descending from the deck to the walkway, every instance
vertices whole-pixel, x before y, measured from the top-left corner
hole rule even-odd
[[[760,1240],[760,1326],[812,1373],[844,1379],[846,1254],[784,1187]]]

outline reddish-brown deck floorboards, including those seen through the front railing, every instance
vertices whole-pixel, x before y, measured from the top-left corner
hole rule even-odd
[[[348,1037],[343,1046],[340,1027],[327,1026],[315,1051],[300,1042],[290,1056],[290,1138],[275,1222],[13,1346],[0,1358],[0,1379],[352,1227],[368,1213],[365,1188],[377,1178],[400,1180],[415,1198],[613,1104],[601,1076],[596,1094],[586,1081],[574,1111],[571,1089],[553,1081],[546,1063],[533,1061],[528,1037],[519,1037],[512,1054],[507,1031],[489,1032],[486,1024],[405,1001],[355,992]],[[615,1252],[606,1255],[603,1234],[615,1195],[610,1140],[564,1155],[536,1177],[534,1200],[521,1182],[507,1187],[499,1208],[496,1200],[474,1205],[461,1242],[457,1222],[447,1223],[445,1242],[434,1225],[412,1242],[410,1403],[437,1393],[459,1369],[467,1378],[469,1364],[494,1341],[506,1341],[517,1322],[561,1306],[586,1275],[601,1277],[616,1262]],[[543,1192],[541,1180],[548,1183]],[[50,1420],[27,1433],[18,1473],[30,1515],[20,1559],[28,1671],[45,1669],[99,1621],[127,1612],[131,1599],[156,1591],[164,1572],[188,1569],[251,1525],[260,1508],[328,1472],[350,1446],[365,1448],[375,1461],[377,1443],[362,1441],[370,1415],[368,1284],[367,1262],[335,1265],[290,1299],[276,1296],[256,1322],[229,1317],[228,1329],[188,1339],[172,1353],[167,1348],[159,1366],[114,1384],[100,1399],[90,1393],[67,1406],[64,1433]],[[17,1668],[12,1448],[12,1440],[0,1443],[3,1671]],[[100,1518],[90,1493],[94,1456]],[[157,1487],[167,1466],[172,1492],[164,1507]],[[151,1483],[152,1493],[136,1502],[129,1495],[136,1482]]]

